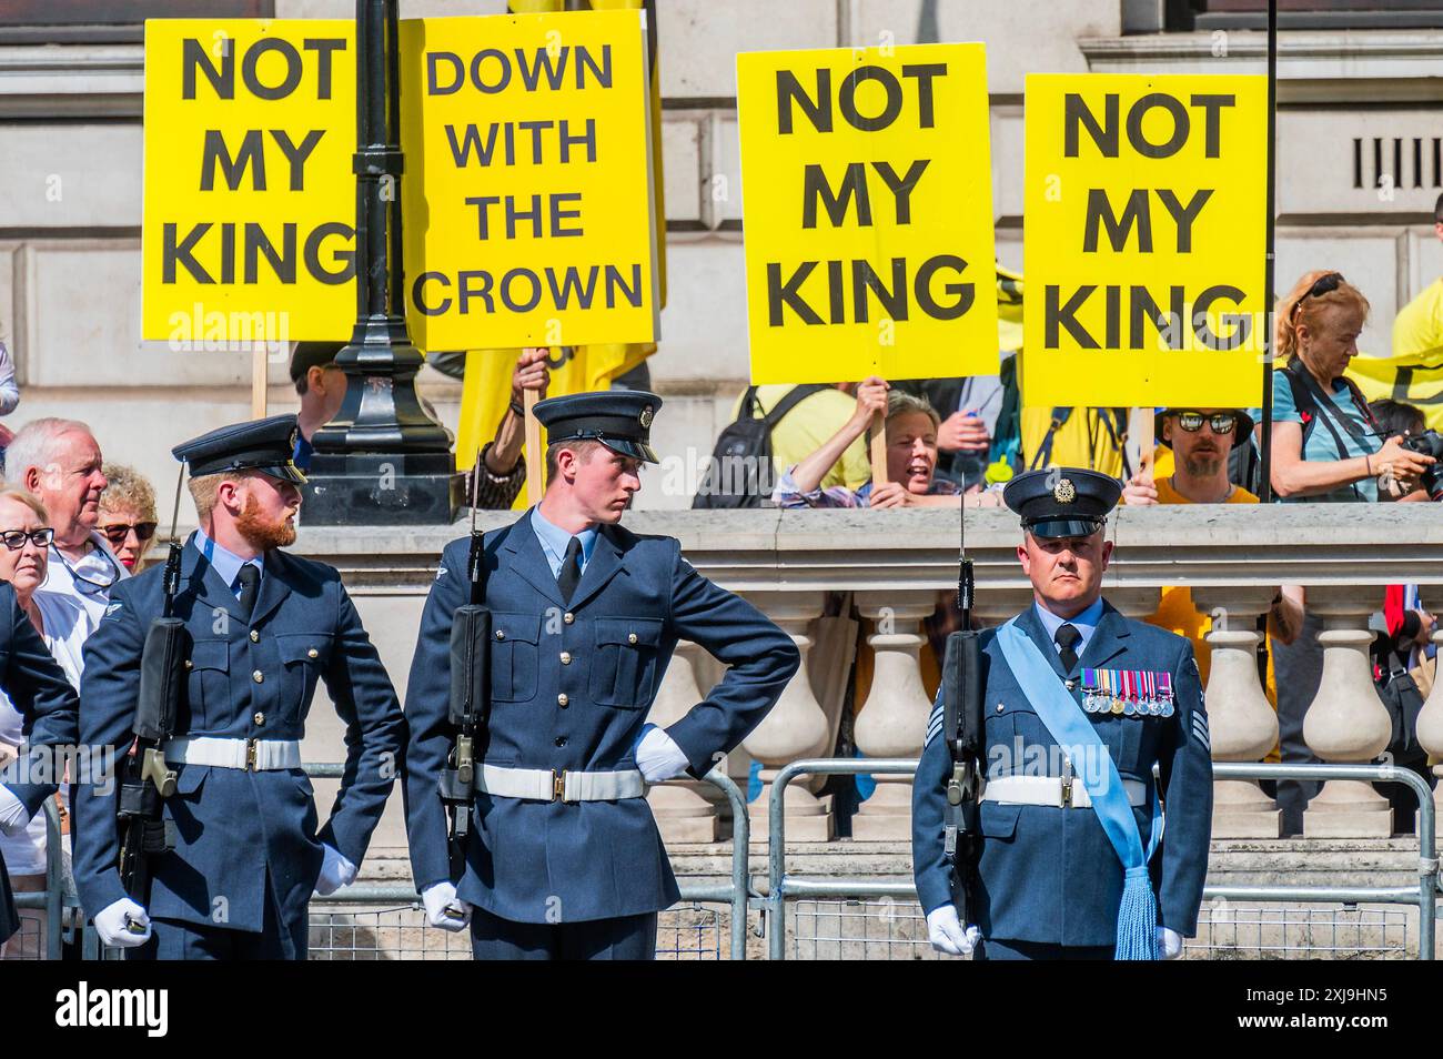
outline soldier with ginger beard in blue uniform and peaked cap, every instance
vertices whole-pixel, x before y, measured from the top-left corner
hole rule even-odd
[[[130,958],[304,959],[306,908],[348,884],[381,819],[405,720],[335,568],[290,555],[300,508],[296,417],[222,427],[177,446],[201,528],[182,554],[175,616],[190,636],[165,812],[173,851],[152,866],[150,899],[117,871],[117,792],[76,796],[75,882],[107,945]],[[117,586],[85,643],[81,734],[131,744],[140,656],[165,607],[163,568]],[[346,768],[317,831],[300,740],[317,681],[346,726]]]

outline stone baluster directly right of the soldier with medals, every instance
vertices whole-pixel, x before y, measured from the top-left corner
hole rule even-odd
[[[1260,762],[1277,744],[1277,710],[1258,680],[1257,619],[1271,606],[1276,589],[1193,589],[1192,602],[1212,615],[1206,703],[1212,760]],[[1212,796],[1215,838],[1277,838],[1283,814],[1255,779],[1219,779]]]

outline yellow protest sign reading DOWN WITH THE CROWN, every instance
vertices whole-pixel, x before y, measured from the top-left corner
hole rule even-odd
[[[401,23],[420,348],[655,340],[644,30],[638,10]]]

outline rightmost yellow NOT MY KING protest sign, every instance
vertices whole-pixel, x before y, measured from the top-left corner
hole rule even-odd
[[[1026,81],[1022,400],[1263,392],[1267,79]]]

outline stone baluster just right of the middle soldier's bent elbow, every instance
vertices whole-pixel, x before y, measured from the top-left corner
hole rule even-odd
[[[747,599],[768,618],[776,622],[792,638],[801,651],[802,664],[797,669],[782,697],[760,724],[742,743],[746,752],[762,765],[762,794],[752,801],[752,841],[762,843],[771,831],[768,807],[772,798],[772,781],[786,765],[799,757],[824,757],[831,749],[828,743],[827,714],[823,711],[811,688],[808,674],[808,652],[812,638],[808,625],[821,616],[821,592],[749,592]],[[788,841],[825,843],[831,838],[831,799],[818,798],[807,789],[804,779],[786,786],[786,838]]]

